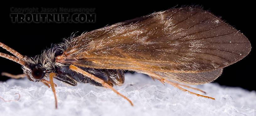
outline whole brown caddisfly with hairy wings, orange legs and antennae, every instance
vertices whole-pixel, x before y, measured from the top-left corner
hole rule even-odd
[[[180,87],[188,86],[172,81],[190,85],[211,82],[224,67],[243,59],[251,50],[241,32],[193,7],[155,12],[86,32],[64,39],[35,57],[23,56],[1,42],[0,46],[16,57],[0,56],[21,64],[30,81],[51,86],[56,108],[53,78],[73,86],[83,82],[109,88],[132,105],[112,88],[124,83],[123,70],[147,74],[188,91]]]

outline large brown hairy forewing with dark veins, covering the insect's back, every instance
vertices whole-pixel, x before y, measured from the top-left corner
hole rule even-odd
[[[116,23],[67,42],[57,62],[101,69],[197,73],[243,59],[248,39],[209,12],[176,8]]]

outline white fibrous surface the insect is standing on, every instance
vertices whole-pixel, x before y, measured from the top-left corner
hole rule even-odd
[[[112,90],[80,83],[76,87],[57,84],[58,109],[51,88],[40,82],[10,79],[0,82],[1,116],[255,116],[256,92],[216,83],[189,85],[205,91],[198,97],[172,85],[153,81],[147,75],[125,73],[125,83],[114,89],[129,98],[134,106]]]

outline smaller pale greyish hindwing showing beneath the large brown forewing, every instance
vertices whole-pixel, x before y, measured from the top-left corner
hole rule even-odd
[[[212,70],[208,72],[200,73],[174,73],[174,72],[157,72],[157,71],[144,71],[144,70],[134,70],[136,72],[144,73],[158,80],[166,79],[173,80],[184,84],[190,85],[200,85],[209,83],[217,79],[221,73],[222,69]]]

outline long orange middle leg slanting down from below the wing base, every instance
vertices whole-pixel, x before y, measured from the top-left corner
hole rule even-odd
[[[112,91],[114,91],[116,94],[120,95],[121,97],[123,97],[124,99],[126,99],[127,101],[130,102],[130,104],[133,106],[133,104],[131,103],[131,100],[126,98],[124,95],[120,94],[118,91],[116,91],[114,88],[112,88],[112,86],[110,86],[109,84],[107,84],[106,82],[104,82],[103,80],[99,79],[98,77],[74,66],[74,65],[69,65],[69,68],[77,73],[83,74],[84,76],[90,77],[92,80],[95,80],[96,82],[102,84],[104,87],[111,89]]]

